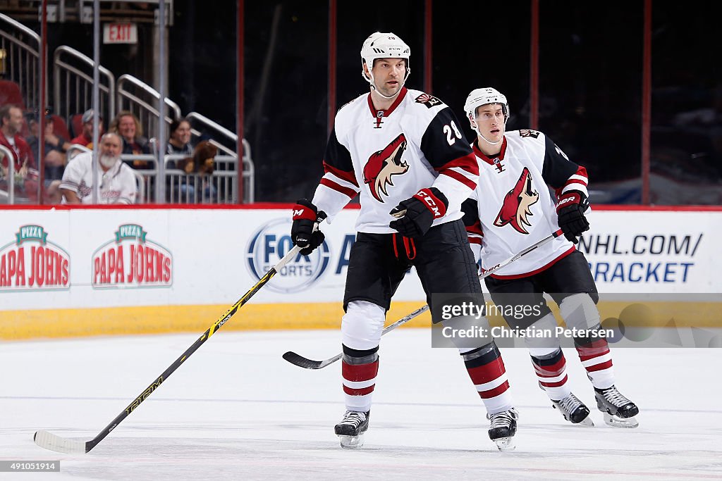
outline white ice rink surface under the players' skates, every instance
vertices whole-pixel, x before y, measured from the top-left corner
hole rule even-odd
[[[39,429],[95,437],[199,335],[0,343],[0,459],[61,461],[60,473],[0,479],[722,479],[722,349],[612,348],[617,387],[640,406],[636,429],[604,425],[574,350],[567,372],[593,428],[563,420],[526,350],[505,349],[521,419],[516,450],[501,453],[457,351],[432,349],[426,329],[383,337],[360,450],[333,433],[340,362],[308,371],[281,358],[331,357],[336,331],[221,330],[90,453],[32,442]]]

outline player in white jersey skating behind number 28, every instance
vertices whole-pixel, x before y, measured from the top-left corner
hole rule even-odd
[[[577,237],[589,229],[586,169],[571,162],[539,131],[505,131],[506,97],[496,89],[475,89],[464,105],[477,138],[471,144],[479,160],[479,183],[463,206],[464,224],[477,258],[484,266],[539,242],[553,232],[564,235],[543,244],[485,279],[492,300],[502,306],[539,306],[541,313],[506,316],[510,327],[554,332],[556,319],[544,301],[546,292],[559,305],[575,348],[593,384],[597,407],[607,424],[635,428],[638,407],[614,386],[612,355],[601,328],[599,294]],[[555,193],[549,193],[551,186]],[[514,311],[520,312],[520,311]],[[539,386],[552,405],[572,423],[592,425],[589,409],[567,386],[566,361],[557,337],[524,338]]]

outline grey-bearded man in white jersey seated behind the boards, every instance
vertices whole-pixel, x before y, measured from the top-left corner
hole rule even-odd
[[[123,139],[117,133],[106,133],[100,138],[100,152],[97,167],[100,186],[93,182],[92,152],[83,152],[74,157],[63,175],[60,190],[69,204],[92,203],[92,191],[97,191],[97,202],[101,204],[135,202],[138,193],[136,175],[133,169],[121,161]]]

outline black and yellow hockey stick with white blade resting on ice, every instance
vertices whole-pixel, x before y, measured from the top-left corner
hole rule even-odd
[[[316,223],[316,226],[314,226],[314,229],[318,227],[318,223],[323,221],[323,219],[326,219],[326,214],[323,212],[318,213],[318,221]],[[146,400],[150,394],[152,394],[155,389],[158,389],[160,387],[160,384],[168,379],[168,376],[170,374],[173,374],[173,371],[178,369],[178,367],[183,364],[183,362],[186,361],[189,357],[191,357],[191,354],[196,352],[198,348],[201,347],[203,343],[206,342],[206,340],[209,339],[214,333],[219,330],[223,325],[228,322],[228,320],[233,317],[233,314],[235,314],[238,309],[240,309],[243,304],[248,302],[248,299],[251,299],[256,292],[260,291],[263,286],[268,283],[268,281],[273,278],[274,275],[276,275],[279,270],[283,268],[284,265],[286,265],[290,260],[292,260],[296,255],[298,255],[298,252],[300,251],[300,247],[294,246],[284,257],[279,260],[279,262],[274,265],[268,272],[264,274],[261,279],[258,280],[258,282],[245,294],[243,294],[243,297],[238,299],[238,301],[233,304],[233,306],[228,309],[228,311],[223,314],[219,319],[213,323],[211,327],[204,332],[201,337],[196,340],[193,345],[191,345],[190,348],[186,350],[183,354],[181,354],[181,357],[173,361],[173,363],[168,366],[168,369],[163,371],[163,374],[158,376],[158,378],[153,381],[146,389],[143,390],[139,394],[138,397],[135,398],[133,402],[128,405],[120,414],[116,416],[115,419],[110,421],[110,424],[105,426],[103,431],[100,431],[100,433],[95,436],[95,438],[92,438],[90,441],[76,441],[74,439],[69,438],[62,438],[61,436],[57,436],[53,433],[49,433],[48,431],[36,431],[35,435],[32,436],[33,441],[35,441],[35,444],[40,446],[41,448],[50,449],[51,451],[58,451],[58,453],[66,453],[66,454],[84,454],[90,451],[91,449],[95,448],[95,446],[100,443],[100,441],[103,441],[105,436],[108,436],[110,434],[110,431],[113,431],[118,424],[120,424],[125,418],[127,418],[131,412],[135,410],[136,407],[140,405],[141,402]]]

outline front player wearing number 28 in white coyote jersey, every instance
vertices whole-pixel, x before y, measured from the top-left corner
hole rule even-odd
[[[336,113],[325,174],[313,200],[298,200],[293,209],[291,237],[309,254],[324,238],[313,231],[317,213],[333,221],[360,195],[341,327],[346,413],[334,428],[347,448],[361,446],[368,428],[386,311],[406,271],[417,269],[432,312],[432,293],[482,296],[461,220],[461,203],[477,186],[479,166],[451,109],[404,87],[409,55],[409,46],[393,33],[367,38],[361,58],[370,92]],[[487,408],[490,438],[509,449],[518,414],[499,350],[489,340],[457,347]]]

